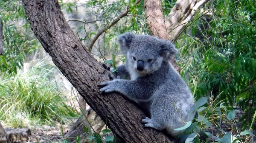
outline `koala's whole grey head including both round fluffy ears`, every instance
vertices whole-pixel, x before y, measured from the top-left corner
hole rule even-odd
[[[139,73],[153,73],[178,50],[172,42],[149,35],[125,33],[117,38],[126,62]]]

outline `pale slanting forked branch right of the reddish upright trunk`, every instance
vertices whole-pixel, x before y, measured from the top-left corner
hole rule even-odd
[[[175,42],[192,20],[198,8],[209,0],[177,0],[166,17],[166,28],[172,42]]]

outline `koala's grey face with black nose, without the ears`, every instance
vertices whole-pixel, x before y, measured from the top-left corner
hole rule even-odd
[[[153,45],[133,43],[127,52],[126,61],[138,73],[150,74],[158,70],[163,57],[154,50]]]

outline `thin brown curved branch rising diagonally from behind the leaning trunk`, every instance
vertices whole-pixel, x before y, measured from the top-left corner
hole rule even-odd
[[[140,1],[141,1],[141,0],[136,0],[135,5],[137,5],[138,3],[140,3]],[[90,45],[88,46],[88,50],[91,51],[92,48],[93,48],[94,43],[95,43],[96,40],[99,38],[99,36],[101,36],[105,31],[107,31],[109,28],[111,28],[113,25],[115,25],[116,22],[118,22],[119,20],[121,20],[122,17],[125,17],[125,16],[128,14],[128,12],[130,12],[130,8],[129,8],[129,7],[127,7],[126,10],[125,10],[124,12],[122,12],[122,14],[120,14],[118,17],[116,17],[116,19],[114,19],[113,22],[112,22],[110,25],[108,25],[108,26],[102,28],[102,30],[99,31],[99,32],[94,36],[94,38],[91,40],[91,43],[90,43]]]

